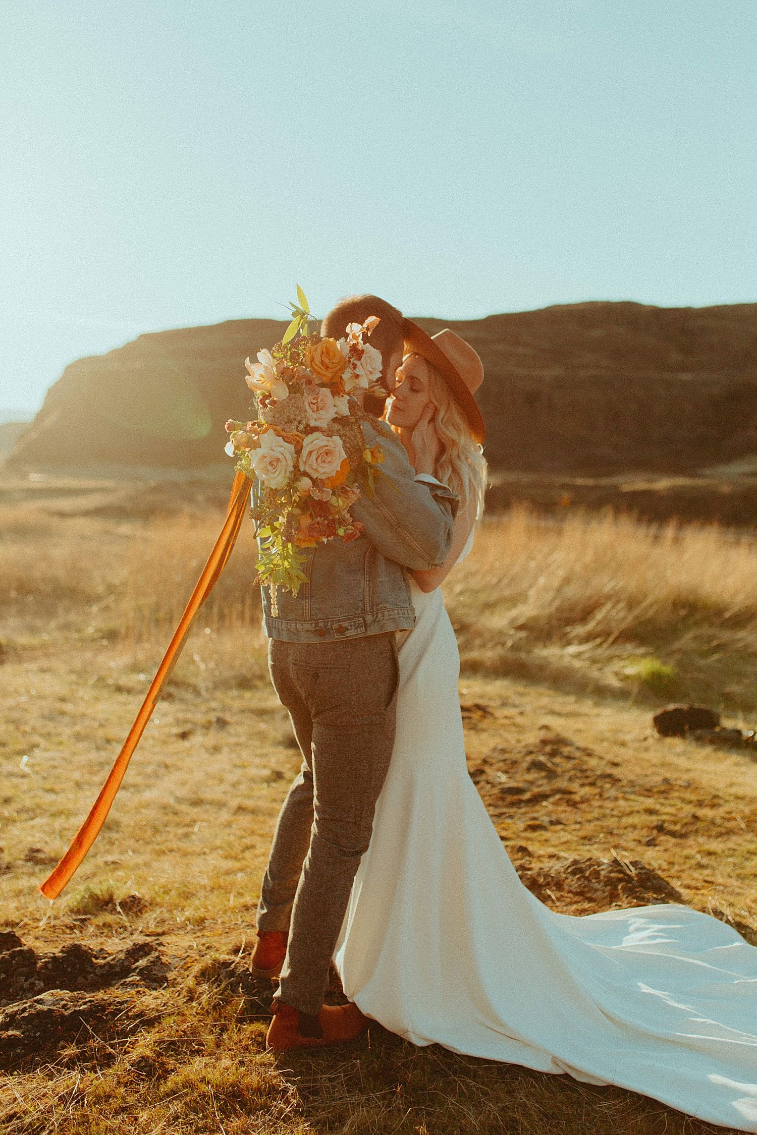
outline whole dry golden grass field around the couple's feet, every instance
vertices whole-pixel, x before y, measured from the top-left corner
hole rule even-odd
[[[56,515],[49,499],[0,514],[0,931],[39,958],[141,943],[167,974],[146,981],[136,967],[113,987],[61,994],[89,998],[90,1015],[6,1067],[0,1129],[715,1132],[628,1092],[415,1049],[378,1026],[342,1052],[264,1052],[269,991],[245,960],[298,760],[266,674],[250,530],[100,839],[61,899],[42,898],[219,523],[212,512]],[[527,884],[583,914],[628,902],[629,865],[641,863],[751,936],[752,754],[663,740],[650,716],[666,700],[704,700],[754,723],[757,545],[715,528],[516,511],[483,523],[446,595],[471,774]],[[567,869],[575,860],[583,881]]]

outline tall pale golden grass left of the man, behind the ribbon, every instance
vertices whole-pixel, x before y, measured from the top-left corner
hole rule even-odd
[[[41,510],[0,513],[0,594],[6,634],[160,641],[178,621],[220,530],[219,518],[177,514],[150,521],[57,518]],[[203,612],[211,630],[259,623],[252,527]]]

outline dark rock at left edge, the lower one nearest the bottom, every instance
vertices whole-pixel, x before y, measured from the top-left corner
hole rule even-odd
[[[51,990],[0,1010],[0,1067],[12,1068],[30,1057],[49,1057],[64,1042],[87,1036],[124,1035],[132,1019],[128,1003],[112,993],[86,994]]]

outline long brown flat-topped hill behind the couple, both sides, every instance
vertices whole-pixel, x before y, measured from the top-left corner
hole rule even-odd
[[[757,453],[757,304],[581,303],[453,327],[483,359],[480,403],[495,469],[682,473]],[[233,320],[142,335],[68,367],[10,468],[224,461],[244,417],[244,358],[283,322]]]

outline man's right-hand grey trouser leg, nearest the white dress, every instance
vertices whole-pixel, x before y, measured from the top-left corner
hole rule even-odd
[[[314,819],[292,910],[280,998],[316,1016],[394,747],[395,636],[298,644],[289,667],[313,722]]]

